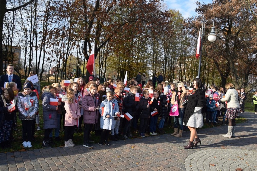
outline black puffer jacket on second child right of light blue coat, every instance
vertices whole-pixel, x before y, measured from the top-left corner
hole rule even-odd
[[[135,102],[135,94],[128,92],[124,98],[123,105],[125,106],[125,113],[130,115],[137,115],[139,109],[139,102]]]

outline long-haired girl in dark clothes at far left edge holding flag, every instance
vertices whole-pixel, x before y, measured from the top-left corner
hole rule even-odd
[[[9,106],[14,104],[14,108]],[[13,122],[15,121],[15,104],[14,92],[11,87],[5,88],[0,96],[0,145],[2,148],[10,146],[10,133]]]

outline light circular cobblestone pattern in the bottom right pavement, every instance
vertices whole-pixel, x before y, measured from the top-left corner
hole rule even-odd
[[[257,170],[257,151],[209,149],[197,151],[185,160],[187,171],[194,170]]]

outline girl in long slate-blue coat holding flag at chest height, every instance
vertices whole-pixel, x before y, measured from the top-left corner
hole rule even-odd
[[[43,94],[41,95],[42,105],[43,105],[43,121],[45,135],[42,143],[43,148],[51,148],[51,141],[49,135],[53,128],[58,127],[57,110],[58,107],[51,104],[51,99],[55,99],[55,87],[51,85],[43,87]]]

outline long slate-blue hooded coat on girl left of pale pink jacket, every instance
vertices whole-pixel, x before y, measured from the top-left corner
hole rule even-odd
[[[50,92],[44,92],[41,95],[42,105],[43,105],[43,120],[44,129],[57,128],[57,111],[56,106],[50,105],[50,99],[54,99],[54,95]]]

